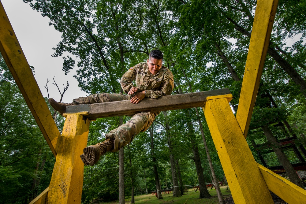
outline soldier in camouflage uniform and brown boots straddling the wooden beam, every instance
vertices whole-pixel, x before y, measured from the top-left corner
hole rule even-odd
[[[49,103],[60,114],[63,114],[66,112],[66,106],[71,105],[122,100],[130,100],[135,104],[144,98],[170,95],[174,87],[173,75],[168,68],[162,66],[162,58],[161,51],[152,50],[147,62],[139,63],[123,74],[120,84],[128,95],[100,93],[73,99],[73,103],[58,103],[50,98]],[[132,83],[134,80],[135,85]],[[102,143],[85,147],[84,154],[80,155],[84,165],[96,164],[99,158],[108,151],[117,152],[121,147],[130,143],[139,132],[146,131],[158,114],[159,112],[137,113],[127,123],[106,134],[106,139]]]

